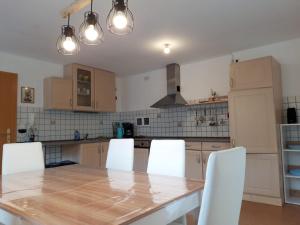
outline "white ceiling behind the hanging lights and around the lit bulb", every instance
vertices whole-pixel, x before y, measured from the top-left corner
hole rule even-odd
[[[0,51],[124,76],[300,37],[299,0],[129,0],[135,28],[124,37],[106,29],[111,0],[95,0],[104,43],[81,44],[78,56],[61,56],[56,39],[65,20],[59,13],[71,2],[1,0]],[[71,18],[77,31],[83,11]],[[169,56],[162,54],[164,42],[173,47]]]

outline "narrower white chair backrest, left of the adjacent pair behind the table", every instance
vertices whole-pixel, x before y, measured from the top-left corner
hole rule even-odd
[[[134,140],[111,139],[108,146],[106,168],[113,170],[133,170]]]

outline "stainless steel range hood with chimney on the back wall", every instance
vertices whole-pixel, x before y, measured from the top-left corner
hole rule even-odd
[[[167,96],[154,103],[152,108],[171,108],[186,105],[180,94],[180,66],[177,63],[167,65]]]

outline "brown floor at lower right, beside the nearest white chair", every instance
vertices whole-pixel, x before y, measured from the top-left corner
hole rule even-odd
[[[243,202],[239,225],[300,225],[300,206]]]

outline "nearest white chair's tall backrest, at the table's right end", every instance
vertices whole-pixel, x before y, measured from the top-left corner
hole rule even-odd
[[[198,225],[238,225],[245,167],[243,147],[211,153]]]

